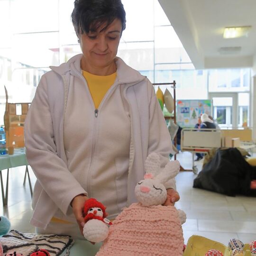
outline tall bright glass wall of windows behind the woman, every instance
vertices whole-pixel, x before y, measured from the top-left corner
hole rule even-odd
[[[118,56],[152,83],[175,80],[176,99],[181,100],[208,99],[208,84],[210,92],[248,93],[249,69],[194,69],[157,0],[122,2],[127,27]],[[0,26],[0,124],[5,108],[4,85],[9,102],[31,102],[49,66],[81,53],[71,22],[72,10],[73,0],[0,0],[0,24],[8,24]],[[161,89],[165,91],[166,87]],[[245,96],[240,98],[239,125],[249,121],[249,103]]]

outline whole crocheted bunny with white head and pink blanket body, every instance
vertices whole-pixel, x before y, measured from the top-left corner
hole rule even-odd
[[[164,184],[179,172],[178,161],[161,171],[159,155],[150,154],[144,180],[137,183],[138,203],[125,208],[110,226],[109,236],[96,256],[183,256],[186,214],[174,206],[163,206],[167,197]]]

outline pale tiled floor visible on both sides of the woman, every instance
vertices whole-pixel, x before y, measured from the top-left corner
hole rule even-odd
[[[192,156],[185,152],[178,155],[178,160],[185,169],[192,167]],[[196,162],[201,170],[202,162]],[[35,176],[30,176],[32,184]],[[3,176],[6,176],[6,170]],[[0,208],[0,215],[6,215],[11,222],[11,228],[21,232],[33,232],[28,223],[32,214],[31,196],[28,186],[23,187],[25,166],[10,169],[8,207]],[[176,208],[187,214],[183,224],[185,243],[194,234],[219,241],[225,245],[230,238],[239,238],[244,243],[256,240],[256,198],[243,196],[228,197],[214,192],[192,188],[192,172],[181,172],[176,177],[177,190],[181,200]]]

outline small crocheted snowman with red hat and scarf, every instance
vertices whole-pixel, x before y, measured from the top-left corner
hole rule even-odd
[[[109,234],[107,224],[112,225],[112,222],[106,219],[106,207],[96,199],[90,198],[84,203],[84,214],[84,237],[94,243],[104,241]]]

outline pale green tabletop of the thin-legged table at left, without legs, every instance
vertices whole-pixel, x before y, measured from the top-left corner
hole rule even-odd
[[[25,148],[15,148],[13,155],[0,155],[0,171],[12,167],[28,165]]]

